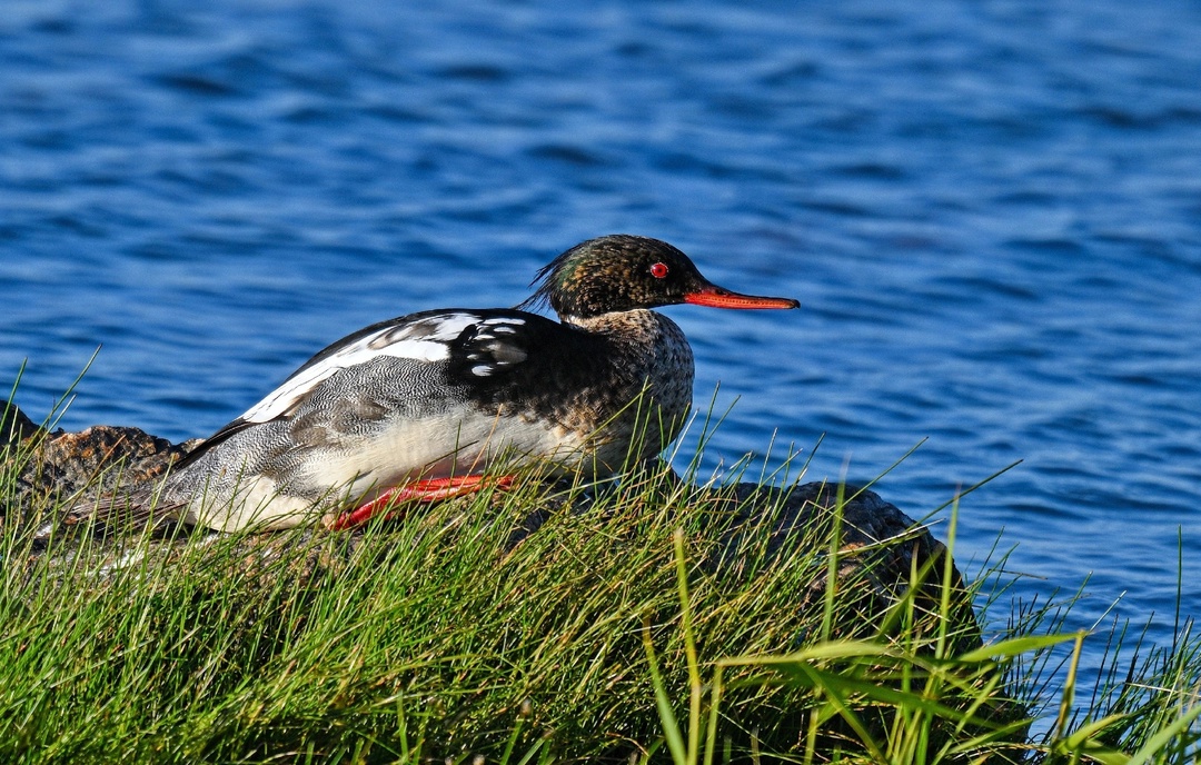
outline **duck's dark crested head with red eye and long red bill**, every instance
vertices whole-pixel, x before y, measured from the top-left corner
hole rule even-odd
[[[665,241],[613,234],[580,243],[538,271],[522,306],[545,301],[561,317],[692,303],[716,309],[795,309],[790,298],[760,298],[718,287]]]

